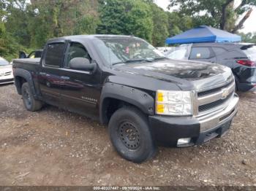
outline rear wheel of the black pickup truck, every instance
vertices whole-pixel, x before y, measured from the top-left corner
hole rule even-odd
[[[23,83],[21,87],[21,94],[23,99],[23,104],[27,110],[31,112],[36,112],[42,108],[42,102],[34,99],[33,93],[31,92],[31,88],[29,87],[29,83]]]

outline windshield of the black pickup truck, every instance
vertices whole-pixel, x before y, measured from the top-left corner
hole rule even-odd
[[[109,66],[165,58],[165,55],[151,44],[136,37],[97,37],[97,39],[95,42],[97,49]]]

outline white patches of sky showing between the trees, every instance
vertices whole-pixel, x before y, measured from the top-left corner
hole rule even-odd
[[[241,0],[236,0],[235,4],[238,4],[239,1]],[[167,6],[169,4],[169,0],[155,0],[155,3],[159,6],[162,7],[162,9],[167,10]],[[241,32],[244,33],[249,33],[249,32],[256,32],[256,8],[253,10],[252,14],[250,17],[245,21],[244,23],[244,28],[241,29]]]

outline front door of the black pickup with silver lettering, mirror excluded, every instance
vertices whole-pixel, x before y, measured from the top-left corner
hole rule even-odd
[[[91,56],[86,47],[79,42],[69,42],[64,68],[60,77],[64,80],[61,88],[61,104],[69,111],[86,114],[89,117],[99,117],[100,79],[99,70],[94,72],[70,69],[69,61],[73,58]]]

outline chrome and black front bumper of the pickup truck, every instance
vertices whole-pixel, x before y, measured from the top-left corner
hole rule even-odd
[[[234,93],[222,109],[191,117],[149,116],[148,121],[157,142],[165,146],[189,147],[223,136],[238,111],[238,95]],[[191,139],[178,145],[179,139]]]

